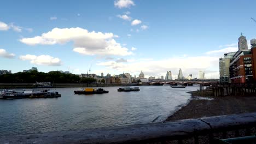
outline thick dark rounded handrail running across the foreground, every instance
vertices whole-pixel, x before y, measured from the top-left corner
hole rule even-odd
[[[256,112],[180,121],[0,136],[0,143],[144,143],[181,140],[222,131],[256,126]]]

